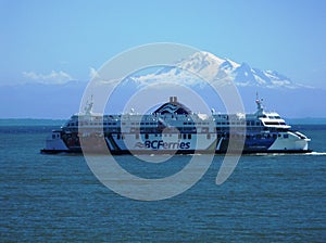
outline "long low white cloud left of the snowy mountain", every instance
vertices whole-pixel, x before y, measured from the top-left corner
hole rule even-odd
[[[46,85],[62,85],[67,81],[74,80],[74,78],[63,71],[52,71],[50,74],[37,74],[35,72],[23,72],[23,76],[35,82]]]

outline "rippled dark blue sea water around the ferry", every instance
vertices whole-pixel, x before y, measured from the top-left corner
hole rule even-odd
[[[82,155],[40,154],[51,123],[0,123],[0,242],[326,242],[324,125],[299,127],[312,154],[242,156],[221,186],[216,155],[185,193],[142,202],[104,187]],[[135,174],[161,171],[130,155],[118,161]]]

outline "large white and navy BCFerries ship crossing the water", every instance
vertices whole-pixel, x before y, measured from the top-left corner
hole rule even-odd
[[[41,153],[104,152],[110,154],[308,153],[305,135],[275,112],[266,112],[256,99],[251,114],[197,114],[176,97],[151,114],[131,111],[121,115],[85,112],[73,115],[46,140]],[[235,149],[236,144],[236,149]],[[238,146],[237,146],[238,144]],[[106,152],[105,152],[106,151]]]

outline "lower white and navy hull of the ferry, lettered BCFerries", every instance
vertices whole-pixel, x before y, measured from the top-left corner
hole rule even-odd
[[[288,135],[287,138],[284,138]],[[191,139],[178,139],[177,135],[148,135],[148,139],[145,136],[137,138],[135,135],[124,135],[118,138],[118,135],[112,135],[110,137],[99,138],[98,143],[105,143],[105,148],[93,145],[93,141],[89,141],[90,146],[87,146],[87,152],[104,152],[108,150],[111,154],[153,154],[153,153],[166,153],[166,154],[192,154],[192,153],[226,153],[228,146],[228,139],[217,138],[216,135],[191,135]],[[188,135],[187,135],[188,136]],[[188,138],[188,137],[187,137]],[[252,143],[250,140],[244,141],[244,146],[241,153],[308,153],[310,139],[298,138],[292,132],[283,133],[274,141],[256,140]],[[85,142],[87,143],[87,139]],[[46,143],[46,149],[42,153],[80,153],[80,146],[68,146],[62,139],[49,139]],[[271,144],[271,145],[268,145]],[[92,148],[93,145],[93,148]],[[242,148],[239,148],[239,152]]]

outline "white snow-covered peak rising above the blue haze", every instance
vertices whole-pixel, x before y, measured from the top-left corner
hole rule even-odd
[[[192,75],[181,71],[190,72]],[[251,67],[247,63],[239,64],[229,59],[217,57],[209,52],[196,52],[188,59],[176,62],[175,67],[165,67],[155,74],[133,77],[133,80],[138,84],[170,80],[187,84],[188,86],[198,85],[193,74],[209,81],[217,81],[221,85],[233,81],[238,87],[300,87],[290,78],[275,71],[261,71]]]

